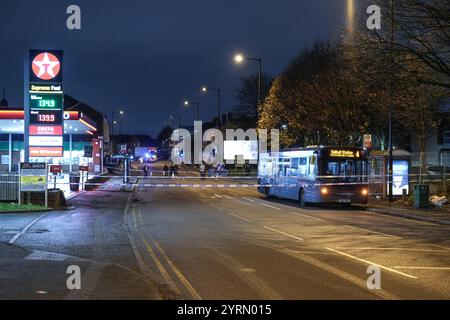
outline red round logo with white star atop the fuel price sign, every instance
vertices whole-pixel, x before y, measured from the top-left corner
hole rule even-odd
[[[60,50],[31,50],[30,82],[62,82],[62,58]]]

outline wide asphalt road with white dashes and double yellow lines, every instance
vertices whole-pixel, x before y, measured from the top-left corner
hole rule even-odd
[[[38,220],[7,246],[11,253],[0,250],[2,271],[9,268],[0,297],[450,298],[449,227],[358,207],[300,208],[229,179],[163,179],[160,166],[135,192],[85,193],[71,210]],[[34,219],[0,215],[1,245]],[[74,260],[33,261],[37,273],[23,250]],[[88,290],[64,287],[74,263]],[[367,287],[370,265],[381,270],[381,289]]]

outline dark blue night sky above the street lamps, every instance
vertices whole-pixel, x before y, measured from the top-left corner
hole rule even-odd
[[[170,114],[191,124],[216,114],[203,85],[223,90],[231,108],[240,77],[257,65],[235,65],[242,52],[280,73],[303,47],[335,37],[345,0],[0,0],[0,89],[23,105],[23,58],[29,49],[65,51],[64,91],[108,114],[124,108],[123,133],[156,136]],[[66,28],[66,8],[81,7],[82,30]]]

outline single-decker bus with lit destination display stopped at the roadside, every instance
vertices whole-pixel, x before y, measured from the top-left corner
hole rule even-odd
[[[268,198],[308,203],[366,204],[368,152],[363,148],[307,147],[261,153],[258,191]]]

